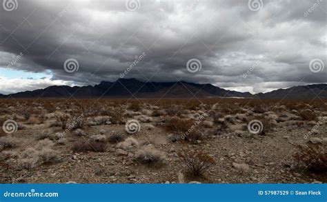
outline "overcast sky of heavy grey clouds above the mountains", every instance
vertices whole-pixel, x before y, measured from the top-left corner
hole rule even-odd
[[[327,83],[325,0],[1,1],[0,93],[119,77],[251,93]]]

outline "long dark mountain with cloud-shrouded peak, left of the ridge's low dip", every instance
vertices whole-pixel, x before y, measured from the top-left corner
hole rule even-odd
[[[13,98],[164,98],[192,99],[215,97],[252,97],[249,92],[225,90],[211,84],[179,82],[142,82],[137,79],[101,81],[98,85],[52,85],[48,88],[18,92],[3,97]]]

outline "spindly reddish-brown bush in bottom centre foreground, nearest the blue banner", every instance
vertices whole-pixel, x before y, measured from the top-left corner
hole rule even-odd
[[[186,167],[186,174],[190,177],[203,177],[208,169],[215,164],[215,160],[204,152],[184,150],[179,152]]]

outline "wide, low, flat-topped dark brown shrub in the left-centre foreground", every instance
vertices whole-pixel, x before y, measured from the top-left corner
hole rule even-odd
[[[88,141],[77,141],[72,145],[73,152],[106,152],[107,143],[94,141],[92,139]]]

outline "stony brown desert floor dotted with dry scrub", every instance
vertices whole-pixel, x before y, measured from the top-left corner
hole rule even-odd
[[[327,101],[1,103],[0,183],[327,182]]]

